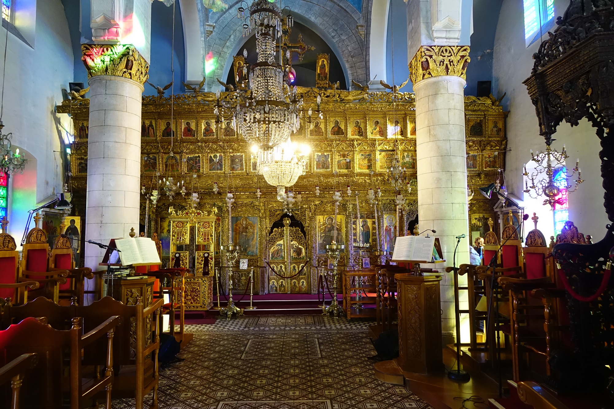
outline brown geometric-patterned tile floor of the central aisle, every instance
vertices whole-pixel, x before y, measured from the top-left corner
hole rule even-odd
[[[160,372],[160,409],[432,409],[373,376],[373,322],[327,316],[220,319],[186,325],[183,362]],[[146,400],[146,404],[151,401]],[[134,400],[114,400],[114,408]]]

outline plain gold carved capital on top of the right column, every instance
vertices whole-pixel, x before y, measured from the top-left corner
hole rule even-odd
[[[468,45],[422,45],[409,64],[410,79],[414,85],[430,77],[465,79],[469,61]]]

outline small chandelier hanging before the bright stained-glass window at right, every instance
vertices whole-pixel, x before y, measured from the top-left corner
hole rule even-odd
[[[561,193],[561,189],[567,190],[568,193],[575,192],[578,189],[578,185],[584,182],[580,168],[578,167],[578,165],[580,165],[580,159],[576,160],[576,166],[572,169],[572,173],[567,174],[565,159],[569,158],[569,156],[565,151],[565,145],[563,145],[563,150],[560,154],[556,149],[552,149],[550,144],[546,144],[545,152],[537,152],[537,154],[534,155],[531,149],[530,154],[531,160],[537,163],[537,165],[535,165],[535,173],[529,174],[529,172],[527,172],[527,166],[525,165],[523,176],[526,176],[527,179],[531,179],[530,186],[528,181],[524,182],[524,193],[528,193],[531,198],[535,199],[544,195],[546,199],[543,201],[543,204],[550,204],[554,209],[555,204],[563,204],[565,201],[565,198],[558,197]],[[559,174],[556,176],[555,180],[554,173],[556,171],[559,171]],[[570,178],[573,177],[576,172],[578,173],[578,179],[570,181]],[[545,177],[535,182],[535,179],[540,174],[545,174]],[[571,182],[574,182],[574,184],[572,185]]]

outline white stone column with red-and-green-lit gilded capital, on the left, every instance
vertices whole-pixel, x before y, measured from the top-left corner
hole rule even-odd
[[[141,95],[149,64],[132,45],[83,44],[90,85],[85,240],[108,244],[139,230]],[[104,249],[85,245],[99,270]]]

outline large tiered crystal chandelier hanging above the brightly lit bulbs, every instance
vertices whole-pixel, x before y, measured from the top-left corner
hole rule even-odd
[[[244,18],[245,9],[239,7],[238,17]],[[292,26],[292,16],[286,19]],[[282,15],[278,4],[267,0],[255,0],[249,6],[249,19],[243,25],[243,36],[255,31],[257,63],[249,68],[250,93],[237,90],[238,101],[234,121],[243,138],[262,149],[271,149],[286,142],[292,131],[300,125],[298,112],[303,98],[298,98],[297,88],[290,88],[285,80],[290,66],[284,67],[280,56],[275,61],[275,41],[281,36]],[[289,60],[290,52],[287,51]],[[243,51],[247,57],[247,51]]]

